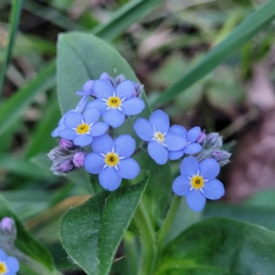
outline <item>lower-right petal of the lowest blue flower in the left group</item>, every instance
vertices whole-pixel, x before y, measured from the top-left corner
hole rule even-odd
[[[124,179],[133,179],[140,173],[140,166],[135,159],[127,157],[121,159],[118,164],[118,175]]]

